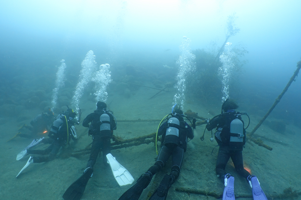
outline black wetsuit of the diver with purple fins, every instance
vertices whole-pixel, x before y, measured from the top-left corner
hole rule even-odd
[[[230,157],[234,164],[235,170],[239,175],[246,179],[250,175],[250,173],[244,169],[242,150],[233,150],[233,147],[230,145],[230,123],[235,118],[236,115],[234,115],[234,113],[226,112],[212,118],[212,120],[210,120],[206,125],[206,129],[209,131],[216,128],[215,139],[219,144],[219,153],[216,161],[216,174],[219,175],[222,180],[224,180],[224,177],[227,174],[225,172],[225,168]],[[241,118],[239,119],[242,121]],[[244,145],[246,142],[246,131],[244,129],[243,131]]]

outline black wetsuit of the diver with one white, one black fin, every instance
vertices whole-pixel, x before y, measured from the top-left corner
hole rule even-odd
[[[100,130],[102,122],[100,117],[102,114],[107,114],[110,117],[110,130]],[[91,122],[91,125],[89,123]],[[96,159],[100,151],[103,154],[103,163],[107,166],[107,154],[110,154],[111,138],[113,135],[113,130],[116,130],[116,123],[113,115],[104,110],[95,110],[93,113],[89,114],[82,122],[84,127],[89,127],[89,135],[93,136],[93,142],[91,147],[90,158],[87,163],[87,168],[92,167],[96,163]]]

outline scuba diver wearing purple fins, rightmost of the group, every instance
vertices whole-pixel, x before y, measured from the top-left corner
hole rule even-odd
[[[234,177],[225,172],[225,168],[230,157],[236,172],[240,176],[244,177],[250,184],[253,199],[266,200],[266,196],[260,187],[257,177],[250,175],[250,173],[244,169],[242,151],[246,143],[245,129],[247,129],[249,125],[244,128],[244,121],[241,119],[241,115],[247,115],[247,113],[236,112],[235,109],[237,108],[238,104],[236,101],[227,99],[222,104],[222,113],[211,120],[207,119],[205,128],[205,130],[207,129],[208,131],[211,131],[211,133],[212,130],[216,128],[215,139],[219,146],[219,153],[216,161],[216,174],[218,177],[222,178],[222,181],[225,183],[223,200],[235,199]],[[204,135],[200,139],[203,141]],[[214,141],[213,136],[211,136],[210,140]]]

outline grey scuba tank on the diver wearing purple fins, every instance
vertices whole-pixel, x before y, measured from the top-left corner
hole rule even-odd
[[[243,150],[244,143],[244,124],[238,119],[240,115],[237,115],[230,124],[230,150]]]

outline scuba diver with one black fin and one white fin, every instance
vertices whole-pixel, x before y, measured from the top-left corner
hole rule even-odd
[[[110,165],[113,175],[120,186],[134,182],[132,175],[110,154],[113,130],[116,130],[117,127],[113,112],[110,112],[111,111],[107,110],[106,103],[98,101],[96,110],[83,120],[82,125],[89,127],[88,136],[93,136],[90,158],[83,175],[73,182],[65,191],[63,195],[65,200],[79,200],[81,198],[88,180],[93,175],[93,166],[101,151],[104,165]],[[90,122],[91,124],[89,124]]]

